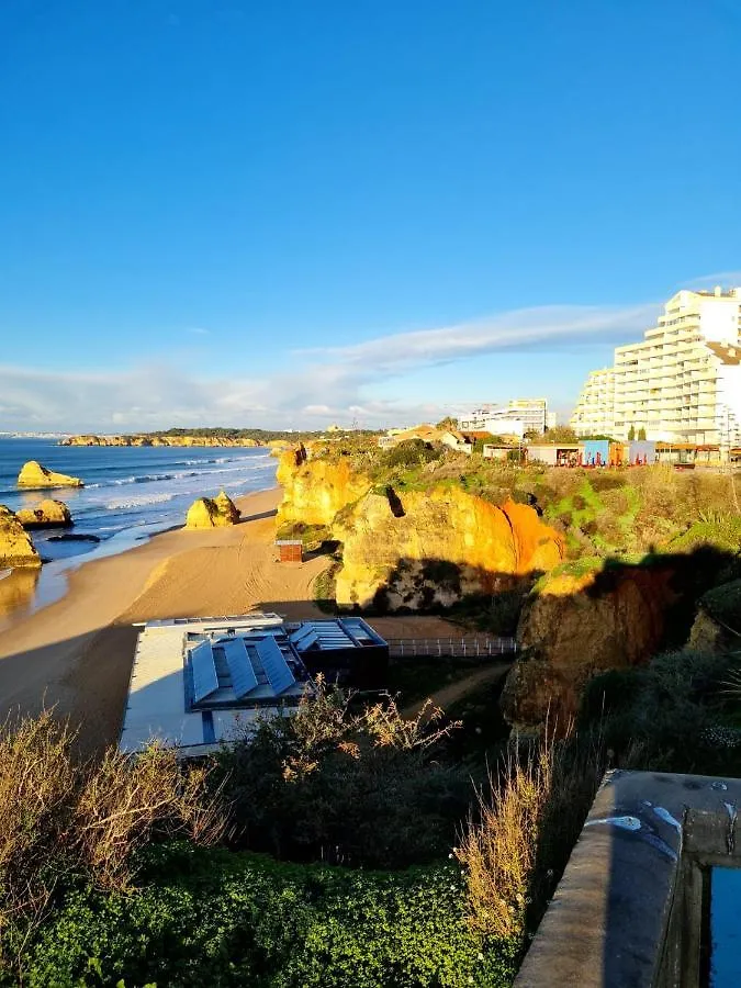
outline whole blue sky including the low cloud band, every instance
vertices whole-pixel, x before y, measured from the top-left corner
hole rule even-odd
[[[0,430],[565,413],[741,282],[741,0],[0,4]]]

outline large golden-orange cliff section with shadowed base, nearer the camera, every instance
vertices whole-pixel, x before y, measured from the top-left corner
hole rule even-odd
[[[534,508],[496,506],[460,487],[369,493],[333,526],[344,543],[337,603],[396,610],[492,594],[563,559],[561,536]]]

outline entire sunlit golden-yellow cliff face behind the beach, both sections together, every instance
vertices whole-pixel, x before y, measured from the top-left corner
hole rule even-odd
[[[449,605],[465,594],[507,588],[563,559],[559,532],[513,501],[497,506],[454,485],[377,489],[348,459],[307,459],[303,449],[281,457],[278,480],[280,525],[326,526],[343,543],[339,605]]]

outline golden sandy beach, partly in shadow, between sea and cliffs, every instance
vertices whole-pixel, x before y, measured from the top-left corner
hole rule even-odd
[[[313,583],[326,557],[278,563],[280,489],[236,501],[232,528],[177,529],[108,559],[82,562],[57,603],[0,636],[0,718],[54,706],[79,730],[86,752],[117,740],[136,643],[135,622],[274,610],[322,616]],[[385,636],[450,635],[440,618],[374,620]],[[452,632],[454,633],[454,631]]]

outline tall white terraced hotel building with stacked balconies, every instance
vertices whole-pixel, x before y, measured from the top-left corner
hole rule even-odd
[[[590,374],[571,425],[581,436],[741,442],[741,288],[677,292],[642,343]]]

